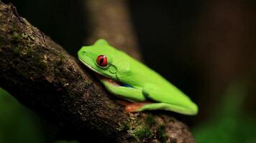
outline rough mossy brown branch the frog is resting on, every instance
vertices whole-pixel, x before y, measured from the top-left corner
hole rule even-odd
[[[95,132],[105,142],[195,142],[173,117],[124,112],[91,71],[3,3],[0,67],[1,87],[51,122],[81,132],[81,141]]]

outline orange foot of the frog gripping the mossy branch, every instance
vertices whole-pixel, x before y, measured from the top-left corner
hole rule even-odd
[[[124,106],[126,112],[137,112],[137,109],[144,107],[146,104],[150,104],[151,102],[125,102],[125,101],[118,101],[119,104]]]

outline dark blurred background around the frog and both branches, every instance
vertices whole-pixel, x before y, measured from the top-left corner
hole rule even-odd
[[[73,56],[86,44],[89,19],[83,1],[3,2],[14,4]],[[256,1],[130,0],[128,6],[145,64],[198,104],[195,117],[175,114],[198,142],[256,142]],[[13,134],[26,142],[63,137],[8,93],[1,91],[1,98],[0,111],[8,112],[0,112],[0,142],[19,141],[10,139]]]

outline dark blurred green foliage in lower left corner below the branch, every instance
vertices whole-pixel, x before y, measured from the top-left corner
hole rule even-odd
[[[44,142],[37,117],[4,89],[0,89],[0,142]]]

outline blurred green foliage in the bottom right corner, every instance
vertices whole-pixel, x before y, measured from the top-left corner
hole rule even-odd
[[[242,111],[246,89],[242,84],[232,84],[211,121],[193,129],[198,143],[255,143],[256,118]]]

